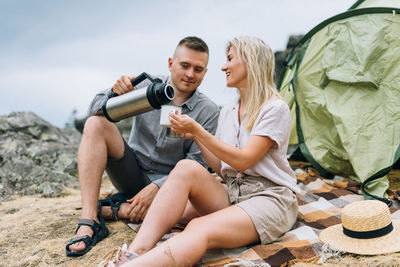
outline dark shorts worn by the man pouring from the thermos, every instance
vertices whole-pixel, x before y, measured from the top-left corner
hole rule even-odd
[[[115,188],[131,198],[150,184],[151,180],[139,166],[135,151],[122,140],[125,145],[124,155],[119,159],[108,158],[106,172]]]

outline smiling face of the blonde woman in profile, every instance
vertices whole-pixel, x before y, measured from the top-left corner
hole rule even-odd
[[[226,73],[226,86],[236,88],[247,87],[246,63],[236,54],[234,47],[229,49],[226,58],[227,62],[221,68]]]

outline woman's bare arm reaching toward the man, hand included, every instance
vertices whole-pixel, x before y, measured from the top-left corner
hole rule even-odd
[[[172,130],[177,133],[189,133],[206,149],[220,160],[242,172],[254,164],[268,152],[274,141],[267,136],[253,135],[246,145],[236,148],[228,145],[208,133],[196,121],[187,115],[170,115]]]

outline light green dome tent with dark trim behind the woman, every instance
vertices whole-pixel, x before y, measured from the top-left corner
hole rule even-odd
[[[292,112],[290,145],[322,175],[349,176],[389,204],[386,175],[400,157],[400,1],[357,1],[314,27],[278,88]]]

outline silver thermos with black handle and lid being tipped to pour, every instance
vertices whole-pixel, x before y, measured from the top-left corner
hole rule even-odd
[[[152,78],[143,72],[132,80],[135,86],[145,79],[151,84],[141,89],[135,89],[123,95],[113,94],[108,98],[103,108],[96,115],[104,115],[111,122],[118,122],[122,119],[135,116],[153,109],[160,109],[161,105],[169,103],[175,97],[174,88],[160,79]]]

